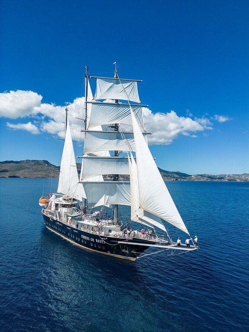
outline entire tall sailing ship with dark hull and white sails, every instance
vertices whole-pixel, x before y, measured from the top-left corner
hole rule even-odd
[[[94,96],[90,78],[96,79]],[[39,201],[51,231],[85,249],[133,261],[151,255],[143,254],[150,247],[167,256],[199,249],[194,243],[178,247],[164,225],[189,235],[148,148],[139,82],[120,79],[116,64],[113,78],[90,76],[86,67],[80,178],[66,108],[58,190]]]

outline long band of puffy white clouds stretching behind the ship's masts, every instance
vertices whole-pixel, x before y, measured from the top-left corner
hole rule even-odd
[[[0,94],[0,116],[15,119],[30,116],[34,123],[10,124],[11,129],[25,129],[33,134],[48,132],[52,135],[64,137],[65,134],[65,106],[41,103],[42,96],[32,91],[10,91]],[[108,100],[109,101],[109,100]],[[112,102],[111,100],[109,102]],[[76,118],[83,118],[84,97],[76,98],[68,105],[68,115],[71,123],[73,139],[80,141],[84,135],[80,130],[84,122]],[[219,122],[230,120],[227,117],[217,116],[211,118],[205,115],[192,119],[192,114],[187,110],[187,117],[179,117],[176,112],[152,113],[143,108],[144,124],[148,132],[153,132],[149,139],[150,144],[170,144],[179,135],[197,137],[198,131],[212,129],[210,119]]]

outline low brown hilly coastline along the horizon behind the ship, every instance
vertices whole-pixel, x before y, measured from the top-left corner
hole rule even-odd
[[[77,164],[78,173],[80,173],[80,164]],[[180,171],[171,172],[159,168],[159,172],[164,180],[178,181],[241,181],[249,182],[249,174],[196,174],[190,175]],[[0,178],[58,178],[60,167],[50,164],[47,160],[5,160],[0,161]],[[108,179],[108,175],[104,176]],[[122,176],[123,179],[129,179],[129,176]]]

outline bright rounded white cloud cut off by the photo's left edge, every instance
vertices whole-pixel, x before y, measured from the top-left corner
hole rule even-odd
[[[16,119],[35,114],[41,105],[42,96],[33,91],[10,91],[0,93],[0,117]]]

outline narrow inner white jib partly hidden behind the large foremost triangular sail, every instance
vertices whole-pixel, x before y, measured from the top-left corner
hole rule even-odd
[[[131,202],[130,219],[149,227],[157,226],[160,229],[166,231],[161,218],[148,211],[144,211],[143,209],[139,208],[137,166],[131,153],[130,153],[130,159],[128,159],[129,170],[130,170],[130,202]]]

